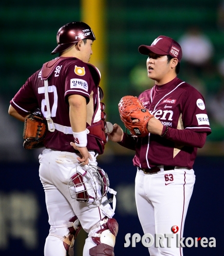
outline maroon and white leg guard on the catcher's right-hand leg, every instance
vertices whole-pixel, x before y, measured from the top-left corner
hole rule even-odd
[[[103,228],[92,236],[93,242],[97,245],[90,249],[90,255],[114,256],[113,247],[118,232],[118,223],[114,218],[104,218],[99,222],[99,226],[103,226]]]

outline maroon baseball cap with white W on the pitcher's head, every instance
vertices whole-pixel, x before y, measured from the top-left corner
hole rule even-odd
[[[182,58],[182,49],[180,44],[166,36],[159,36],[150,46],[140,45],[138,47],[138,51],[144,55],[149,55],[149,52],[161,55],[170,55],[173,58],[177,58],[179,62],[181,62]]]

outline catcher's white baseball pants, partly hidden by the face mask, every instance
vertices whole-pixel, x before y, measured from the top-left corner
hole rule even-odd
[[[97,165],[94,152],[90,152],[93,165]],[[85,202],[78,202],[70,195],[68,182],[74,175],[76,166],[80,163],[75,153],[60,152],[51,149],[44,149],[39,155],[39,177],[45,191],[47,212],[50,233],[57,236],[66,236],[69,233],[68,228],[54,228],[62,224],[69,223],[69,219],[75,215],[78,217],[82,228],[89,233],[93,225],[99,222],[105,214],[99,207],[89,208]],[[110,204],[106,205],[111,209]],[[91,234],[100,228],[91,230]],[[91,237],[86,239],[83,256],[89,256],[89,249],[96,244]],[[56,236],[47,236],[44,248],[45,256],[66,256],[63,241]]]

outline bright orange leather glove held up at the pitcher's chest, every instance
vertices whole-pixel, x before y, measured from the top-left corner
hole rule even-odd
[[[153,116],[137,97],[124,96],[118,104],[118,109],[122,122],[130,130],[132,136],[145,137],[149,134],[147,123]],[[132,123],[134,119],[139,121]]]

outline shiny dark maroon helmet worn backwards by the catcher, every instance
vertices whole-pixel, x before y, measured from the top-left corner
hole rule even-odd
[[[81,21],[65,24],[57,32],[58,45],[51,54],[63,52],[81,39],[95,40],[93,31],[89,25]]]

